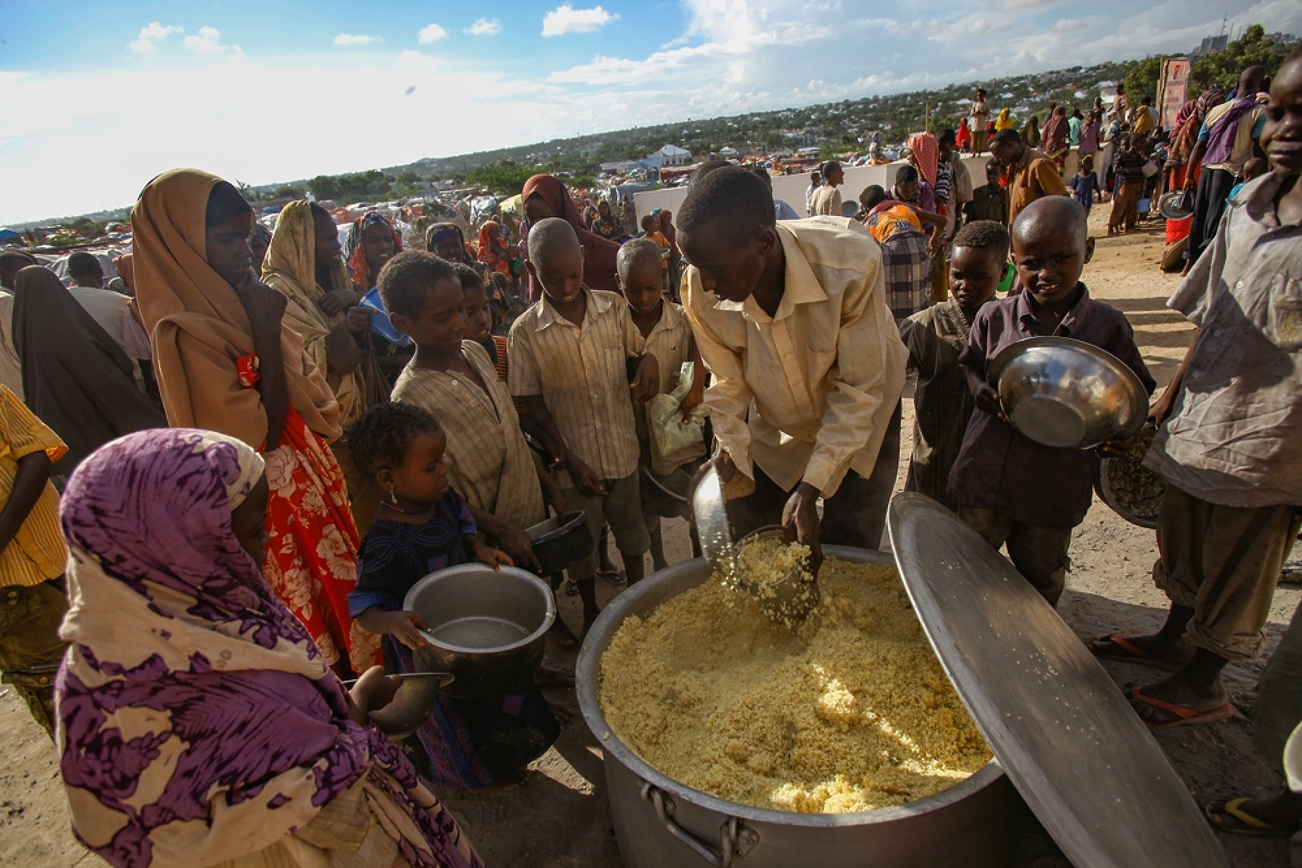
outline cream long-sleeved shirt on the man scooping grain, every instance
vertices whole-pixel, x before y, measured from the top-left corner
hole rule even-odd
[[[715,436],[737,468],[825,497],[848,470],[867,478],[904,390],[907,351],[887,310],[881,251],[845,217],[777,226],[786,256],[775,316],[728,302],[687,269],[685,310],[713,373]]]

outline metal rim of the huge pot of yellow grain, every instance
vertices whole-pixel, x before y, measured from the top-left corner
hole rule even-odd
[[[889,552],[872,552],[868,549],[858,549],[845,545],[824,545],[823,554],[857,563],[896,565],[894,558]],[[710,795],[708,793],[702,793],[700,790],[686,786],[685,783],[680,783],[668,774],[655,769],[631,748],[629,748],[628,744],[620,740],[620,737],[615,734],[615,730],[611,729],[605,716],[602,713],[602,704],[598,698],[602,655],[605,653],[605,648],[609,645],[611,638],[613,638],[616,630],[618,630],[620,625],[624,623],[624,619],[633,613],[637,604],[642,601],[642,597],[655,593],[659,590],[659,586],[664,582],[681,578],[687,573],[708,569],[710,565],[704,558],[693,558],[690,561],[674,563],[665,570],[660,570],[659,573],[650,575],[644,580],[628,588],[605,606],[600,617],[592,625],[592,629],[589,631],[587,638],[583,640],[583,645],[579,649],[578,664],[575,666],[575,692],[578,694],[578,704],[579,709],[583,712],[583,720],[592,734],[596,735],[598,742],[600,742],[602,751],[613,753],[618,763],[629,768],[639,778],[674,798],[685,799],[706,808],[707,811],[733,816],[738,820],[818,829],[872,825],[930,813],[949,804],[961,802],[970,794],[983,790],[999,781],[999,778],[1004,777],[1004,769],[1000,766],[999,760],[991,759],[990,763],[954,786],[907,804],[891,808],[878,808],[876,811],[858,811],[853,813],[798,813],[796,811],[775,811],[772,808],[756,808],[749,804],[742,804],[741,802],[729,802],[728,799],[721,799],[716,795]],[[708,573],[706,576],[708,578]]]

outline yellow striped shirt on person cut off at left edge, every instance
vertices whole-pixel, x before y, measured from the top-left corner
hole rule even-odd
[[[18,459],[44,452],[59,461],[68,446],[8,387],[0,385],[0,496],[13,493]],[[0,552],[0,586],[33,586],[64,574],[68,549],[59,532],[59,493],[48,481],[18,535]]]

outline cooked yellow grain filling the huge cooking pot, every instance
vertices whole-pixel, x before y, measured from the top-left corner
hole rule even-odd
[[[984,765],[894,567],[828,558],[819,584],[794,629],[717,574],[626,618],[602,657],[612,731],[681,783],[802,813],[904,804]]]

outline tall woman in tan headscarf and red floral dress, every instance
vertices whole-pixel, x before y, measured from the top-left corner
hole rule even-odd
[[[267,580],[327,662],[379,662],[348,617],[357,527],[328,444],[339,402],[284,321],[285,297],[253,273],[253,210],[195,169],[154,178],[132,213],[135,288],[169,424],[237,437],[267,462]]]

